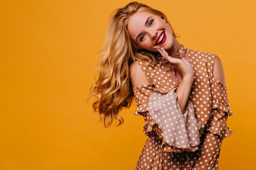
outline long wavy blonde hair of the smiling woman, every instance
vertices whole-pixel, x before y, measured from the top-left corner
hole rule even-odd
[[[157,53],[139,47],[128,33],[128,19],[137,11],[157,15],[171,26],[164,13],[138,2],[130,2],[111,13],[106,38],[99,51],[101,53],[98,52],[97,55],[99,61],[95,77],[99,77],[90,88],[88,97],[88,100],[91,97],[97,98],[92,107],[94,113],[99,113],[99,120],[102,121],[103,118],[106,128],[110,127],[114,120],[119,121],[117,126],[124,123],[119,111],[124,107],[129,108],[134,99],[129,77],[130,64],[135,60],[146,60],[150,66],[155,64]],[[173,30],[172,26],[171,29]],[[174,30],[173,37],[177,38]]]

